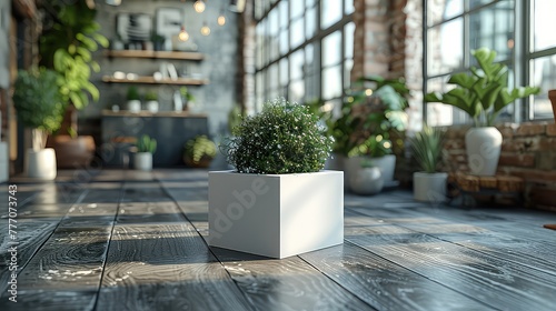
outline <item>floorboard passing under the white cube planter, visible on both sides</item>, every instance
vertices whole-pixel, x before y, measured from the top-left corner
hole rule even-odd
[[[206,240],[207,187],[162,181],[162,187]],[[258,310],[374,310],[298,257],[274,260],[212,248],[234,281]]]

